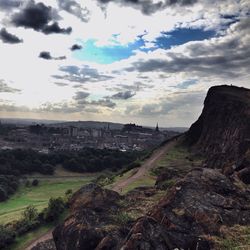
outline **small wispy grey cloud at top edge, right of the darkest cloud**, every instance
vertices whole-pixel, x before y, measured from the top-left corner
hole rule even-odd
[[[59,8],[67,11],[68,13],[78,17],[83,22],[89,20],[89,10],[87,8],[82,8],[79,3],[72,0],[57,0]]]

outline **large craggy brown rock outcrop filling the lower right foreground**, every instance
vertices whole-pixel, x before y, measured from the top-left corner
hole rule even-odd
[[[123,250],[211,249],[222,225],[250,223],[250,193],[218,170],[199,168],[133,226]]]

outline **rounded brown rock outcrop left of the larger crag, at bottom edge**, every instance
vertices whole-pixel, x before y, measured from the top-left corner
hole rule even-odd
[[[77,191],[70,202],[70,216],[53,232],[57,250],[112,249],[121,237],[113,223],[119,199],[118,193],[95,184]]]

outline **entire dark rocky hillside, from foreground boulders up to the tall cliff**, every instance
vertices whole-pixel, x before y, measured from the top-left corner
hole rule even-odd
[[[155,188],[126,196],[83,187],[53,232],[53,248],[46,248],[50,241],[34,249],[250,249],[250,91],[211,88],[184,141],[204,163],[185,171],[172,166]]]

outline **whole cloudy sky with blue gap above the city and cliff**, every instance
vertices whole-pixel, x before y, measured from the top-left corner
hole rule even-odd
[[[0,0],[0,118],[188,127],[249,79],[248,0]]]

